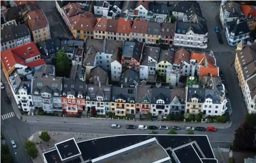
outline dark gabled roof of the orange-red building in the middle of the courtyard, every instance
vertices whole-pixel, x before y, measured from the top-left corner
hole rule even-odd
[[[137,40],[125,41],[123,45],[124,57],[132,57],[140,62],[144,43],[138,42]]]

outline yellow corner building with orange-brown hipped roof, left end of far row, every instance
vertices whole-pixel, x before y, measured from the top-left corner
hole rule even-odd
[[[93,39],[93,28],[95,27],[96,23],[96,18],[92,18],[90,15],[79,14],[69,18],[69,29],[74,38]]]

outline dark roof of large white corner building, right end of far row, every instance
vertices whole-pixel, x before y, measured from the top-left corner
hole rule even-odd
[[[196,24],[195,23],[190,23],[190,22],[176,21],[175,33],[186,34],[190,30],[192,30],[193,33],[196,33],[196,34],[206,34],[206,33],[208,33],[206,20],[202,18]]]

